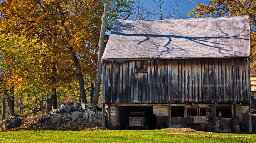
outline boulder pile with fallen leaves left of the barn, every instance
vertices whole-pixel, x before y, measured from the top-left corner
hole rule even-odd
[[[92,106],[94,105],[91,103],[69,102],[62,104],[59,109],[51,110],[48,115],[21,117],[22,119],[9,116],[3,121],[0,132],[3,130],[84,130],[100,127],[102,113]],[[89,107],[92,109],[81,111]]]

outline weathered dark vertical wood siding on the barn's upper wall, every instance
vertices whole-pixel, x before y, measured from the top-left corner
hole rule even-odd
[[[103,60],[106,103],[250,103],[246,58]]]

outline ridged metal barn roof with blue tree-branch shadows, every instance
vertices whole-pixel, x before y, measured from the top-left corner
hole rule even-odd
[[[115,20],[102,59],[250,56],[249,16]]]

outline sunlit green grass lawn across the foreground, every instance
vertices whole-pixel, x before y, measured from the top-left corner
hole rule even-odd
[[[93,142],[175,142],[175,143],[224,143],[224,142],[256,142],[256,134],[231,134],[194,132],[182,133],[164,130],[128,130],[128,131],[12,131],[0,132],[0,143],[14,142],[26,143],[93,143]]]

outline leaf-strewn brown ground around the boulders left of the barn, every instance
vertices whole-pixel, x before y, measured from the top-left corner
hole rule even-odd
[[[41,116],[30,116],[30,117],[20,117],[24,124],[20,127],[12,128],[5,130],[2,127],[2,122],[0,122],[0,132],[6,131],[22,131],[22,130],[107,130],[106,128],[102,128],[101,126],[97,126],[91,123],[88,123],[83,119],[83,117],[79,118],[79,120],[67,120],[65,116],[62,114],[55,114],[54,116],[60,116],[62,119],[65,119],[64,122],[60,123],[59,125],[43,125],[38,124],[36,122],[37,118],[44,117],[45,115]]]

